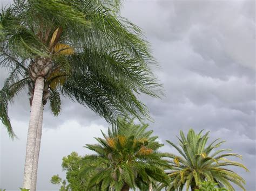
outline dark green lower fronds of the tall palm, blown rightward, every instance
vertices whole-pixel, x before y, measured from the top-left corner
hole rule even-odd
[[[87,105],[109,122],[123,114],[149,117],[136,93],[158,96],[159,84],[145,65],[138,65],[136,59],[129,59],[122,51],[96,51],[93,47],[67,60],[72,69],[62,86],[64,95]]]

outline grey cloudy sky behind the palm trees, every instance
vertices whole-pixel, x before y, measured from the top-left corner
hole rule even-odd
[[[6,4],[10,1],[3,1]],[[223,138],[225,148],[242,154],[250,173],[242,175],[247,190],[255,186],[255,2],[254,1],[125,1],[122,15],[142,27],[161,68],[156,70],[166,96],[143,96],[161,142],[177,142],[179,130],[210,130],[210,140]],[[0,88],[6,72],[2,69]],[[26,93],[16,98],[9,115],[19,139],[10,140],[1,127],[0,188],[22,186],[29,121]],[[96,143],[106,130],[104,119],[63,99],[62,114],[44,110],[38,190],[58,190],[49,180],[63,178],[62,157]],[[164,146],[163,151],[175,152]],[[239,190],[239,189],[238,189]]]

